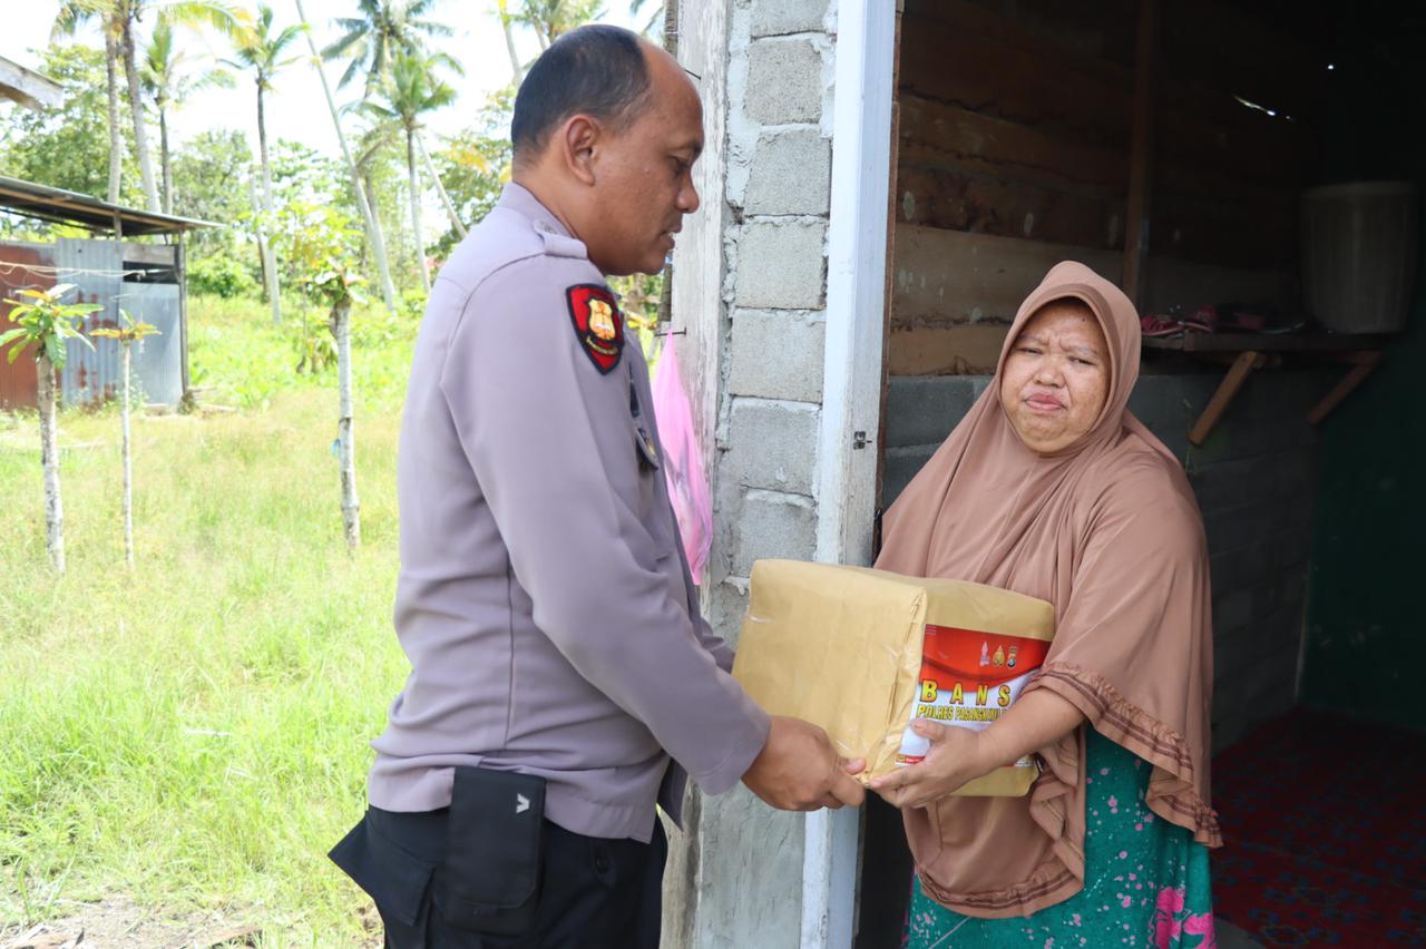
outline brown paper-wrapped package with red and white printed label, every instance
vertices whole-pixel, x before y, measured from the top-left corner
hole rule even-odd
[[[978,583],[794,560],[753,564],[733,675],[773,715],[827,730],[866,758],[863,784],[915,764],[914,718],[985,728],[1044,663],[1054,607]],[[955,794],[1022,795],[1032,757]]]

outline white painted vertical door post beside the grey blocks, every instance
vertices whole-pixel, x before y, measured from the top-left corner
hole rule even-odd
[[[876,517],[896,4],[840,0],[827,231],[817,560],[866,564]],[[803,949],[850,949],[858,811],[807,815]]]

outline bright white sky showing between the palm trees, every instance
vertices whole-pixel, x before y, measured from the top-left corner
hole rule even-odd
[[[235,0],[250,10],[252,0]],[[297,23],[295,0],[270,0],[277,13],[275,27]],[[4,30],[0,33],[0,56],[21,66],[37,68],[40,53],[48,44],[50,27],[58,11],[57,0],[0,0],[4,6]],[[334,17],[356,14],[355,0],[304,0],[304,9],[312,23],[317,47],[322,48],[339,36],[332,24]],[[606,3],[606,23],[632,26],[627,0]],[[652,9],[652,4],[646,10]],[[645,13],[643,16],[647,16]],[[453,36],[435,41],[435,47],[449,53],[465,68],[465,76],[451,76],[459,98],[445,110],[434,113],[429,128],[441,134],[452,134],[468,125],[485,97],[511,81],[511,60],[505,50],[505,37],[495,16],[495,0],[438,0],[434,20],[448,24]],[[642,19],[642,17],[640,17]],[[144,28],[153,27],[145,21]],[[222,40],[190,30],[181,31],[181,48],[191,54],[210,51],[215,56],[230,56]],[[103,47],[103,40],[94,27],[83,31],[74,41]],[[516,50],[525,63],[538,53],[539,44],[528,28],[516,27]],[[267,101],[268,141],[288,138],[301,141],[332,157],[339,155],[337,134],[328,117],[322,97],[321,81],[311,68],[305,40],[297,44],[302,60],[278,74],[275,94]],[[345,90],[337,90],[337,80],[345,64],[327,64],[327,78],[332,84],[338,104],[354,101],[361,94],[361,80],[354,78]],[[187,141],[208,128],[241,128],[257,150],[257,93],[251,78],[238,76],[232,90],[208,90],[194,95],[180,111],[170,117],[170,135],[175,141]],[[123,83],[123,80],[121,80]],[[6,121],[9,110],[0,108],[0,121]],[[355,121],[355,120],[354,120]],[[351,124],[344,127],[351,134]]]

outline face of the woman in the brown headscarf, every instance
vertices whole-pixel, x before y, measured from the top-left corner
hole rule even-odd
[[[1087,304],[1045,304],[1015,338],[1000,402],[1020,440],[1038,455],[1067,449],[1094,427],[1109,395],[1109,351]]]

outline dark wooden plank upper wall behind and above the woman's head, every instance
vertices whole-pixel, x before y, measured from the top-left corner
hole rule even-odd
[[[1323,60],[1226,0],[1161,3],[1145,305],[1291,306]],[[1138,7],[907,0],[891,375],[992,370],[1057,261],[1121,278]]]

